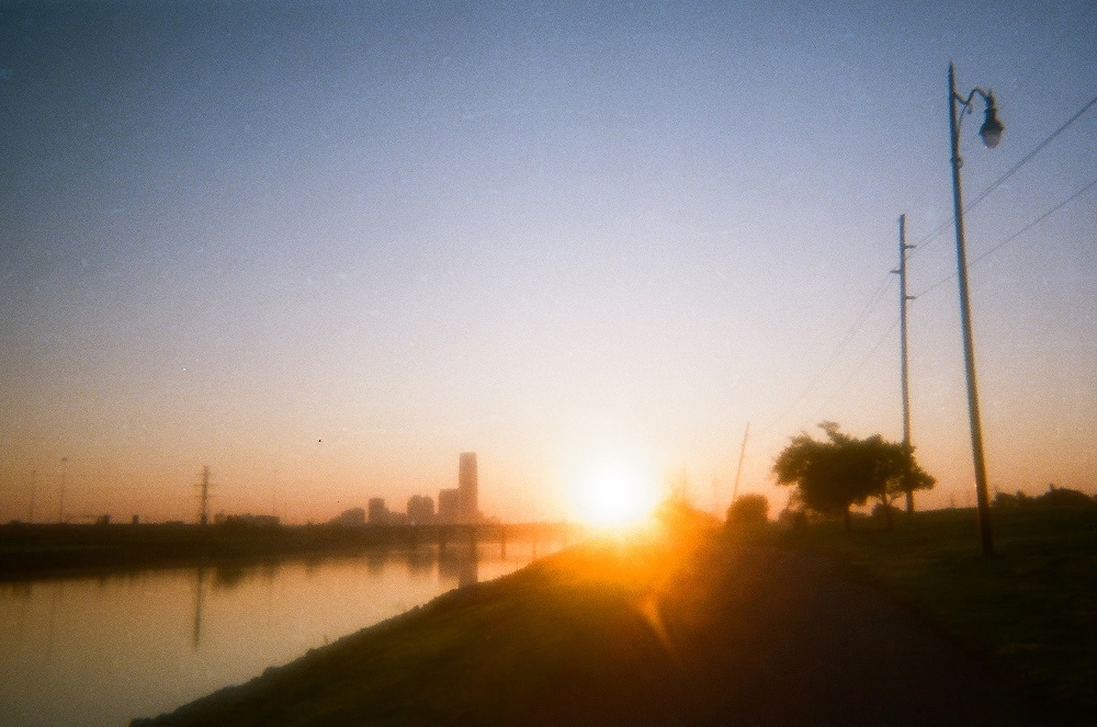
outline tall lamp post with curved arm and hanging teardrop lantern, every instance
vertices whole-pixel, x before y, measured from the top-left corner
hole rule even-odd
[[[960,329],[963,333],[963,362],[968,375],[968,412],[971,417],[971,450],[975,465],[975,500],[979,512],[979,535],[983,555],[994,554],[991,535],[991,499],[986,485],[986,461],[983,457],[983,427],[979,417],[979,387],[975,383],[975,348],[971,332],[971,304],[968,295],[968,254],[963,239],[963,193],[960,186],[960,122],[961,114],[971,113],[971,102],[979,95],[986,104],[979,135],[988,149],[998,146],[1005,126],[998,121],[994,92],[975,88],[966,96],[957,93],[955,68],[949,64],[949,132],[952,140],[952,206],[957,230],[957,279],[960,281]]]

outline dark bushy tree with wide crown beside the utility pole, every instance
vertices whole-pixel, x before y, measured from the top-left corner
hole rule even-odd
[[[773,463],[779,485],[794,485],[805,508],[824,514],[841,513],[849,530],[849,509],[879,498],[891,526],[891,502],[909,489],[927,489],[936,481],[915,462],[913,450],[879,434],[857,439],[838,424],[823,422],[827,439],[806,433],[792,442]]]

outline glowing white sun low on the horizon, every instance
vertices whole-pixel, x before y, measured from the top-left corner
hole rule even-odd
[[[606,529],[629,529],[645,522],[658,503],[655,478],[636,465],[603,462],[576,482],[579,520]]]

